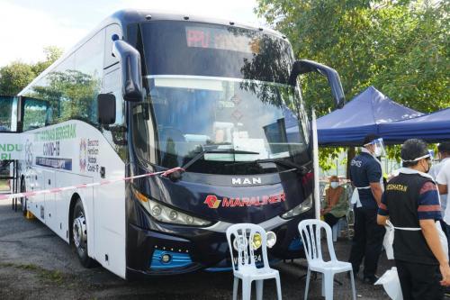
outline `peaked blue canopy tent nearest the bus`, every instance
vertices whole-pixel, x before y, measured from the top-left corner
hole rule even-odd
[[[407,120],[419,115],[422,114],[393,102],[374,86],[369,86],[342,109],[317,120],[319,144],[361,146],[366,134],[381,133],[381,124]]]

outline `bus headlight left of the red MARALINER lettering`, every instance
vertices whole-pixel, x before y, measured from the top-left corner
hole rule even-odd
[[[174,208],[157,203],[156,201],[149,199],[148,196],[139,193],[135,189],[133,189],[133,193],[136,198],[139,199],[139,203],[153,218],[157,219],[157,221],[192,226],[207,226],[211,224],[210,221],[202,220],[189,214],[184,214]]]

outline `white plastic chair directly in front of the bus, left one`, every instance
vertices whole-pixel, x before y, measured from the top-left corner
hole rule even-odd
[[[256,234],[261,236],[261,250],[263,267],[257,268],[255,262],[255,253],[252,247],[252,241]],[[237,239],[238,258],[235,260],[233,242]],[[233,300],[238,299],[239,278],[242,280],[242,299],[249,300],[251,295],[251,285],[253,281],[257,284],[257,299],[263,298],[264,280],[275,278],[276,294],[278,300],[281,300],[280,274],[277,270],[269,267],[267,259],[266,231],[263,227],[251,223],[239,223],[229,226],[227,229],[227,240],[229,244],[229,253],[233,266],[234,284]],[[236,261],[236,263],[235,263]]]

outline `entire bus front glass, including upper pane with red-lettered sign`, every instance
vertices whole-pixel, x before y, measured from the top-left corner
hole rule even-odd
[[[181,167],[212,148],[220,153],[205,153],[189,167],[209,174],[277,171],[260,168],[260,159],[310,161],[306,114],[298,89],[288,84],[289,42],[258,30],[178,21],[142,23],[137,34],[147,91],[144,103],[132,107],[140,159]]]

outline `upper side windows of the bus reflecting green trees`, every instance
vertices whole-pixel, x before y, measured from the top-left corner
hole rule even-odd
[[[97,124],[96,96],[102,86],[103,41],[104,31],[86,41],[74,54],[23,92],[23,95],[45,103],[39,109],[35,104],[24,107],[23,130],[34,128],[35,123],[43,126],[70,119]],[[44,107],[45,115],[37,118],[36,112],[41,112]]]

